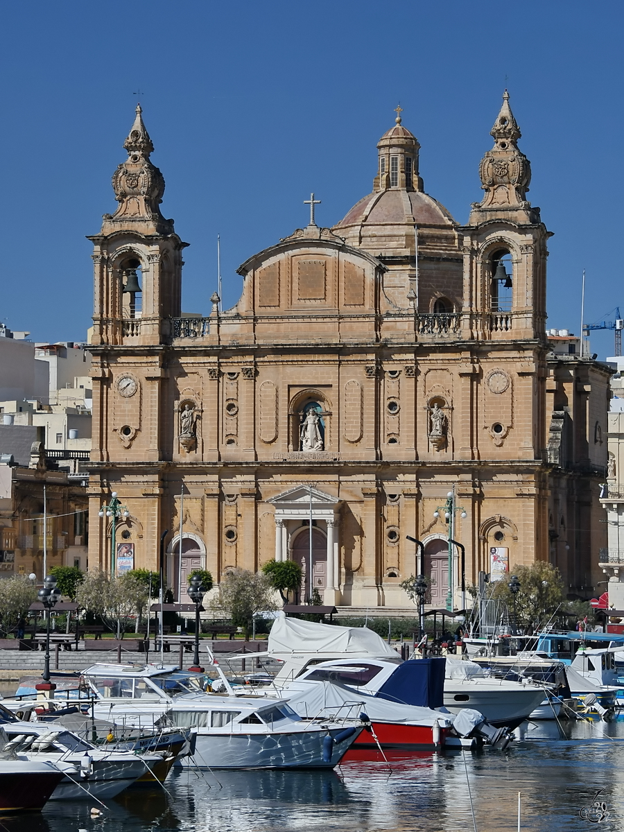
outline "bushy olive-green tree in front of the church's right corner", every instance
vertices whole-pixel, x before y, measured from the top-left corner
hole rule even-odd
[[[518,626],[525,632],[537,632],[546,625],[564,603],[563,581],[557,567],[545,561],[530,566],[514,566],[511,572],[493,585],[492,597],[507,604],[513,615],[513,592],[509,581],[518,577],[520,589],[516,594]]]

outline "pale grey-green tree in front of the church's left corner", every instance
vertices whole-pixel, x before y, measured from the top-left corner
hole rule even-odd
[[[123,637],[131,616],[140,616],[148,600],[145,584],[130,572],[112,578],[106,572],[87,572],[76,593],[78,605],[116,629],[117,638]]]

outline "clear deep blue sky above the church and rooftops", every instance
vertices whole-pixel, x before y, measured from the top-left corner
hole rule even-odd
[[[183,308],[207,312],[221,236],[235,270],[369,193],[375,144],[404,107],[425,189],[465,222],[508,87],[532,162],[529,199],[555,233],[549,326],[578,332],[622,292],[622,2],[12,2],[2,7],[0,319],[32,339],[84,339],[91,244],[136,95],[191,244]],[[507,78],[507,80],[506,80]],[[612,333],[592,337],[601,357]]]

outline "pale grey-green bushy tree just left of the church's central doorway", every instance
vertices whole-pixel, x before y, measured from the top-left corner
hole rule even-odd
[[[231,569],[220,583],[219,595],[210,605],[225,612],[234,626],[242,627],[245,639],[254,626],[256,612],[276,610],[275,589],[268,575],[249,569]]]

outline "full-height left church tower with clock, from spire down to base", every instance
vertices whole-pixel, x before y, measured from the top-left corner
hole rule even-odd
[[[179,318],[182,250],[173,220],[161,214],[165,180],[150,160],[154,146],[136,107],[124,142],[128,153],[112,176],[118,203],[93,241],[93,433],[89,563],[114,570],[116,547],[135,566],[158,551],[161,476],[171,424],[162,419],[166,344]],[[124,511],[115,532],[102,504],[112,493]],[[153,567],[153,562],[151,562]]]

